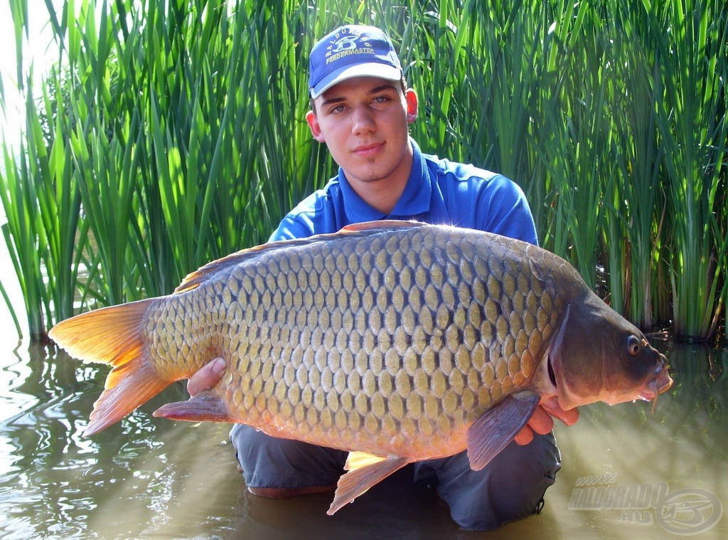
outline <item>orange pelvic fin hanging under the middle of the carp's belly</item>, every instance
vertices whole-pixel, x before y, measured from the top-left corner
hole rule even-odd
[[[389,474],[402,469],[403,466],[410,463],[409,458],[379,458],[379,456],[373,456],[363,452],[355,452],[353,454],[358,455],[355,456],[352,461],[352,454],[349,454],[349,458],[347,458],[347,467],[349,467],[349,472],[343,474],[341,478],[339,478],[339,483],[336,485],[336,493],[334,493],[331,506],[326,512],[330,516],[337,510],[341,509],[342,506],[354,501],[355,498],[360,496],[373,485],[376,485],[387,478]],[[368,464],[352,469],[351,467],[358,463],[364,463],[367,461],[364,456],[368,458]],[[379,459],[372,460],[371,458]]]

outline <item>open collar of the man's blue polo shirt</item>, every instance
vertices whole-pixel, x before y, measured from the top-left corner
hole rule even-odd
[[[382,214],[381,211],[372,208],[362,197],[357,195],[357,192],[349,185],[344,171],[339,168],[339,185],[341,186],[341,194],[344,195],[344,211],[347,213],[349,223],[369,222],[387,217],[411,219],[430,210],[432,180],[427,169],[427,163],[425,163],[419,146],[412,138],[410,138],[410,144],[412,145],[413,154],[412,170],[405,190],[389,215]]]

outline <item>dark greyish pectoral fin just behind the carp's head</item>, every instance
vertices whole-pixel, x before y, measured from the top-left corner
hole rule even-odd
[[[507,396],[467,430],[470,469],[480,471],[521,431],[538,407],[541,397],[531,391]]]

